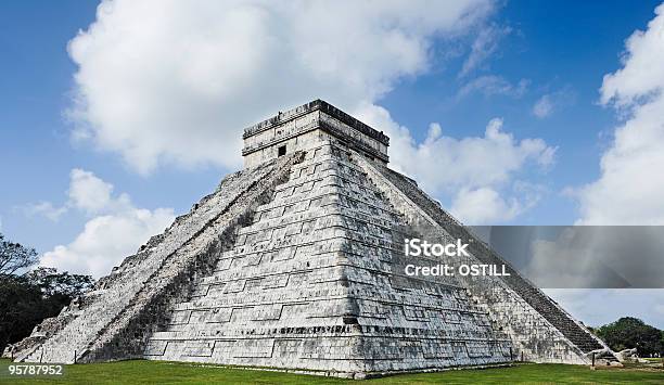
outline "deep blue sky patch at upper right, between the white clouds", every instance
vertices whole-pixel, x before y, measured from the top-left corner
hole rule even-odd
[[[573,200],[559,194],[599,176],[599,159],[616,125],[615,112],[599,105],[602,77],[620,67],[625,39],[652,18],[656,1],[509,1],[497,23],[513,28],[486,64],[487,74],[516,84],[531,80],[521,98],[473,95],[455,100],[463,80],[457,72],[464,57],[447,62],[434,73],[404,81],[381,104],[393,117],[425,137],[430,121],[440,121],[454,137],[481,134],[490,118],[505,118],[518,137],[538,137],[557,145],[556,167],[546,175],[551,188],[546,202],[513,220],[516,224],[570,224],[578,217]],[[573,99],[551,116],[531,113],[550,92],[566,91]]]

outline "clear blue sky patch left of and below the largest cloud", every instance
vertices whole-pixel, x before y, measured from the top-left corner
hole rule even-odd
[[[0,4],[1,162],[11,182],[0,189],[2,230],[13,240],[44,252],[80,232],[85,218],[58,223],[26,216],[22,207],[39,201],[64,203],[69,170],[82,167],[127,192],[140,207],[175,207],[177,213],[213,190],[225,169],[195,172],[163,169],[149,178],[129,171],[113,155],[73,143],[64,116],[71,105],[76,66],[67,42],[94,21],[97,1]],[[177,182],[174,182],[177,181]]]

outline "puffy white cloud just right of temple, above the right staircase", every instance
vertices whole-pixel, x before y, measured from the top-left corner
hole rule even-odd
[[[509,220],[532,207],[536,189],[514,177],[527,165],[545,171],[554,162],[556,147],[541,139],[515,140],[498,118],[487,124],[483,137],[447,137],[440,125],[432,124],[425,140],[417,142],[383,107],[366,105],[356,115],[390,136],[393,168],[412,176],[434,196],[451,196],[452,214],[472,224]]]

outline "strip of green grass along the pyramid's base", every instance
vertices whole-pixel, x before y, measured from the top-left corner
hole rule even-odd
[[[3,360],[2,367],[9,362]],[[2,373],[4,374],[4,373]],[[349,380],[215,365],[158,361],[122,361],[68,365],[61,378],[11,378],[12,384],[342,384]],[[519,364],[512,368],[401,374],[356,384],[664,384],[664,370],[600,369],[566,364]],[[10,383],[0,374],[0,383]]]

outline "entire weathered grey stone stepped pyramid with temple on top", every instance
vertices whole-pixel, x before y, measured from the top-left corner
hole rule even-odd
[[[13,347],[16,361],[141,358],[360,378],[608,350],[414,180],[390,139],[316,100],[244,130],[244,168]],[[442,170],[440,172],[445,172]],[[470,256],[408,257],[406,239]],[[410,277],[407,264],[510,275]]]

